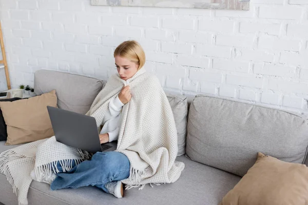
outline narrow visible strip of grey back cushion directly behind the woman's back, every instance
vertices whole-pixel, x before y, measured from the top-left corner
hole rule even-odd
[[[187,97],[179,94],[166,92],[169,104],[174,114],[178,133],[178,156],[185,154],[186,134],[187,134]]]

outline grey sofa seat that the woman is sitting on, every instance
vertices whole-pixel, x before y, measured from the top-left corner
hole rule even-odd
[[[0,152],[12,148],[0,142]],[[46,183],[32,181],[28,201],[31,205],[49,204],[207,204],[217,205],[224,195],[239,182],[241,177],[202,165],[185,156],[177,158],[185,163],[181,177],[175,183],[151,188],[146,185],[124,192],[124,198],[117,199],[111,194],[94,187],[63,189],[51,191]],[[0,202],[6,205],[17,204],[12,186],[3,174],[0,174]]]

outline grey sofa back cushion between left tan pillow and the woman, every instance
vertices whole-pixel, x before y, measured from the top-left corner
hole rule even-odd
[[[104,81],[82,75],[47,70],[38,70],[34,74],[36,95],[56,90],[59,108],[81,114],[90,110],[104,86]]]

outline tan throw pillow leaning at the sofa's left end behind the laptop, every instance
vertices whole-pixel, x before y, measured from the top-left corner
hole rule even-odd
[[[18,145],[54,135],[47,106],[56,107],[55,90],[13,102],[0,102],[8,138],[6,145]]]

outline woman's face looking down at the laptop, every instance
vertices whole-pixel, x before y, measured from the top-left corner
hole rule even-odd
[[[123,80],[131,78],[138,71],[138,64],[131,62],[127,58],[119,55],[115,56],[115,66]]]

